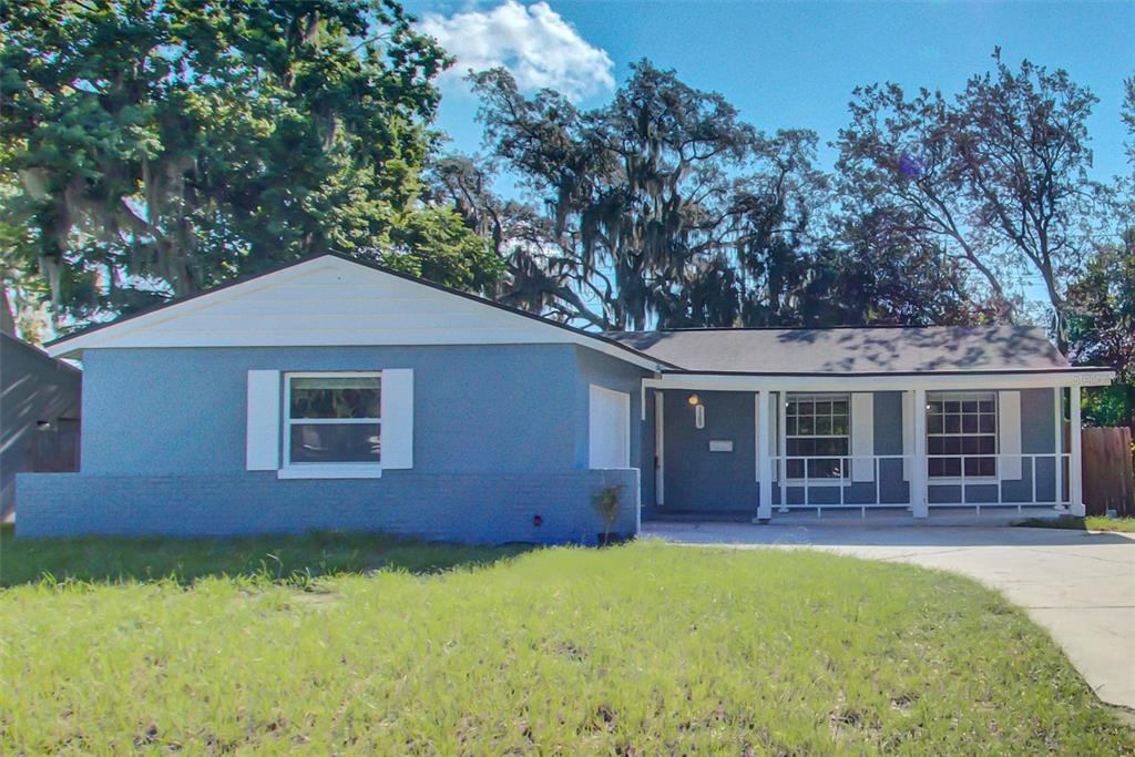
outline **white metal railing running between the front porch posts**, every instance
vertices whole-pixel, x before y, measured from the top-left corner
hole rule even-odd
[[[928,477],[926,474],[928,461],[932,459],[965,460],[967,457],[997,457],[997,476],[966,476],[965,463],[960,465],[960,473],[958,476]],[[915,496],[917,491],[913,488],[915,486],[913,468],[919,463],[914,455],[773,455],[771,459],[775,476],[773,488],[780,493],[780,502],[775,503],[773,508],[779,510],[781,513],[793,510],[815,510],[818,518],[823,514],[824,510],[858,510],[860,511],[860,515],[866,518],[868,510],[894,507],[906,507],[909,510],[913,501],[917,498]],[[1019,479],[1006,479],[1002,477],[1004,463],[1010,460],[1019,460],[1022,463],[1022,477]],[[1052,461],[1052,471],[1051,473],[1046,471],[1042,477],[1037,463],[1045,460]],[[802,478],[789,478],[789,463],[797,461],[800,463],[798,466],[799,470],[805,476]],[[869,479],[861,473],[861,464],[858,466],[860,468],[858,476],[852,472],[857,468],[856,461],[869,462]],[[1026,461],[1028,465],[1025,465]],[[1026,506],[1068,507],[1070,499],[1065,489],[1067,488],[1066,483],[1068,482],[1070,461],[1071,455],[1069,453],[926,455],[920,461],[923,465],[922,479],[925,481],[925,489],[922,491],[922,502],[925,502],[930,510],[959,506],[974,507],[977,514],[981,514],[982,507],[1015,507],[1017,512],[1022,512]],[[892,462],[893,464],[886,465],[884,469],[884,463],[888,462]],[[821,468],[831,470],[833,476],[831,478],[808,478],[807,473],[813,469],[813,463],[818,463]],[[886,476],[885,479],[884,474]],[[859,480],[855,480],[856,478]],[[1037,491],[1049,482],[1052,485],[1053,498],[1039,498]],[[908,487],[905,498],[884,501],[883,494],[885,487],[901,487],[902,485],[907,485]],[[1007,486],[1020,487],[1023,485],[1027,485],[1027,498],[1019,498],[1020,494],[1012,490],[1009,491],[1010,497],[1006,496]],[[995,498],[978,496],[978,493],[972,493],[970,489],[975,487],[981,487],[983,490],[993,489]],[[802,502],[790,503],[789,490],[799,491],[800,489],[802,489]],[[838,499],[834,502],[830,501],[831,495],[829,494],[833,489],[838,493]],[[824,491],[829,496],[825,496],[824,501],[815,502],[813,493],[816,490]],[[953,491],[958,493],[956,499],[943,499],[943,493],[949,497]],[[869,493],[867,497],[864,497],[865,493]],[[932,494],[934,495],[933,498]],[[854,502],[848,502],[849,498],[854,499]]]

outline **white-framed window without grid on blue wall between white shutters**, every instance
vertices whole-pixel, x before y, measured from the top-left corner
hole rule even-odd
[[[380,373],[288,373],[286,405],[287,465],[380,462]]]

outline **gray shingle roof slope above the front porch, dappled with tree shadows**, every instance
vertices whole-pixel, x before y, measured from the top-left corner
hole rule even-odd
[[[687,371],[709,373],[1071,370],[1044,331],[1028,326],[676,329],[605,336]]]

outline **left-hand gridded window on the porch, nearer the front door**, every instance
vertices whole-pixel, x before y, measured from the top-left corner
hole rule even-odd
[[[789,394],[784,412],[785,472],[790,479],[846,478],[851,449],[850,396]],[[809,460],[791,460],[808,457]]]

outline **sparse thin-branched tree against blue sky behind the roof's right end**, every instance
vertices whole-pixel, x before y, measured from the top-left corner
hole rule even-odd
[[[1096,99],[1063,70],[1026,60],[1014,72],[1000,51],[994,60],[952,101],[926,90],[908,99],[894,84],[857,89],[838,141],[842,196],[934,238],[998,320],[1016,314],[1015,281],[1035,276],[1067,353],[1065,288],[1092,241],[1086,123]]]

